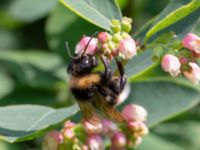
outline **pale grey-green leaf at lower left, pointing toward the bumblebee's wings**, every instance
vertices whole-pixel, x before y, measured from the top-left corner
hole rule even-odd
[[[57,110],[39,105],[0,107],[0,139],[8,142],[33,139],[55,128],[77,111],[77,105]]]

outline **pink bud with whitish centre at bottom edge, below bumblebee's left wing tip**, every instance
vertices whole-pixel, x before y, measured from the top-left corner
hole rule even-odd
[[[90,150],[104,150],[103,141],[99,135],[89,135],[86,143]]]

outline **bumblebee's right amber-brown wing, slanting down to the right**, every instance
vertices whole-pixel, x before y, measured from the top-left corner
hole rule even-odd
[[[112,105],[110,105],[108,102],[106,102],[105,97],[102,96],[99,93],[96,93],[96,100],[95,106],[103,112],[107,117],[110,119],[116,121],[116,122],[125,122],[124,117],[122,114]]]

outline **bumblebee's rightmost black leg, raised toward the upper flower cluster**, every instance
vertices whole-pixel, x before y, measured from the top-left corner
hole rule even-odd
[[[123,68],[123,65],[120,61],[118,61],[117,59],[116,60],[116,63],[117,63],[117,67],[118,67],[118,70],[119,70],[119,74],[120,74],[120,93],[123,91],[125,85],[126,85],[126,82],[127,82],[127,77],[125,76],[124,74],[124,68]]]

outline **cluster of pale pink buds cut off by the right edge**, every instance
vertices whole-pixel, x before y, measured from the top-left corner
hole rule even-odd
[[[200,58],[200,37],[188,33],[182,41],[182,46],[180,51],[186,51],[186,55],[180,51],[177,56],[166,54],[162,59],[161,66],[173,77],[183,73],[192,83],[199,84],[200,66],[197,64],[197,60]]]

